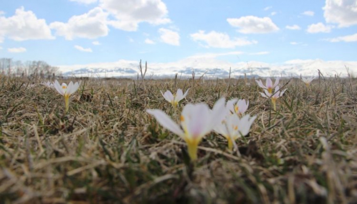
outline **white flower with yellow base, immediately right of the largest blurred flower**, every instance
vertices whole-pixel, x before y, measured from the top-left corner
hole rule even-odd
[[[228,149],[232,151],[234,141],[249,133],[250,127],[256,118],[256,115],[251,117],[249,114],[244,115],[242,118],[239,118],[237,114],[227,114],[222,123],[214,128],[214,131],[228,140]]]

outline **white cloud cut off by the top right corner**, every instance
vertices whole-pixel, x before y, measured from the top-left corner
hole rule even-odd
[[[355,0],[326,0],[322,9],[327,23],[337,23],[339,27],[357,24],[357,2]]]

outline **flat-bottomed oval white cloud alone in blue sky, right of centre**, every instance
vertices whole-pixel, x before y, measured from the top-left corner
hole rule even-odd
[[[227,21],[233,27],[240,27],[238,32],[244,34],[270,33],[279,30],[269,17],[243,16],[240,18],[227,18]]]

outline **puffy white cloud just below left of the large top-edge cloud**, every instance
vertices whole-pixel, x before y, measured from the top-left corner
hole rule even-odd
[[[57,35],[64,36],[66,40],[95,39],[108,35],[107,17],[108,13],[96,7],[83,15],[72,16],[67,23],[56,21],[50,23],[49,26],[56,30]]]

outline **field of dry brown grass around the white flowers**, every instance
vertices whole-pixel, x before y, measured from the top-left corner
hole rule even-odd
[[[253,79],[82,80],[67,114],[38,84],[0,76],[0,203],[357,203],[355,79],[282,79],[276,111]],[[249,100],[240,157],[212,132],[189,161],[146,112],[172,114],[160,91],[177,88],[178,111]]]

